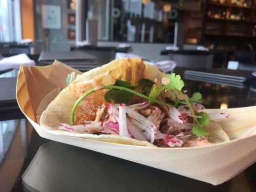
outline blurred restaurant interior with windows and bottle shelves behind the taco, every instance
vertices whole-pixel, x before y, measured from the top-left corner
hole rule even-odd
[[[101,64],[138,56],[256,69],[255,0],[2,0],[0,10],[3,57],[26,53],[46,64],[42,52],[83,51]]]

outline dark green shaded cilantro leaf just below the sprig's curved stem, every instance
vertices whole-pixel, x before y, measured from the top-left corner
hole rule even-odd
[[[133,94],[122,90],[110,90],[105,93],[104,99],[106,102],[130,104]]]

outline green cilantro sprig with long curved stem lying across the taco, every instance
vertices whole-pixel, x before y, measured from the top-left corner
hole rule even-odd
[[[187,107],[189,108],[194,122],[196,125],[193,127],[192,132],[196,136],[202,137],[208,135],[208,131],[203,129],[204,125],[207,125],[209,123],[209,116],[204,113],[200,112],[197,115],[200,116],[200,118],[197,118],[191,103],[193,102],[200,102],[202,95],[200,93],[194,93],[191,98],[187,98],[185,94],[182,92],[182,88],[184,87],[184,81],[181,79],[180,75],[176,75],[175,73],[171,75],[166,75],[162,79],[163,81],[163,86],[158,86],[156,84],[153,84],[150,81],[147,80],[141,80],[139,82],[139,86],[142,87],[142,92],[143,90],[148,93],[148,89],[151,87],[151,92],[149,93],[149,96],[147,96],[146,92],[140,93],[138,91],[135,91],[137,86],[132,86],[131,82],[127,81],[121,81],[121,80],[116,80],[115,84],[109,85],[109,86],[103,86],[99,88],[95,88],[92,90],[87,91],[84,93],[74,104],[71,114],[70,114],[70,123],[74,124],[74,114],[76,111],[76,108],[78,104],[88,95],[98,91],[98,90],[109,90],[105,93],[105,100],[108,102],[115,102],[115,103],[130,103],[131,100],[133,99],[133,95],[137,95],[141,98],[147,99],[148,101],[152,103],[158,103],[163,106],[173,106],[170,103],[162,102],[157,99],[157,97],[161,94],[162,91],[173,91],[176,90],[178,91],[184,98],[185,100],[182,100],[181,102],[186,104]],[[178,100],[178,97],[176,95],[176,100]]]

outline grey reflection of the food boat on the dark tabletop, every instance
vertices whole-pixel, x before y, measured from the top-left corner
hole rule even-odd
[[[23,184],[30,191],[251,191],[245,173],[213,186],[57,142],[40,146],[23,175]]]

